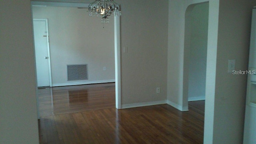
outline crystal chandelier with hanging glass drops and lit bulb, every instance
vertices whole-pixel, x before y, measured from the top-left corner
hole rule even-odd
[[[109,23],[108,16],[121,14],[120,5],[114,0],[95,0],[88,6],[89,16],[102,16],[101,23]]]

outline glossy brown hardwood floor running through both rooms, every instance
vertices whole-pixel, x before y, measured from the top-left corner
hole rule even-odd
[[[188,112],[167,104],[117,110],[114,83],[51,88],[52,98],[46,91],[40,90],[40,144],[203,143],[204,101],[189,102]]]

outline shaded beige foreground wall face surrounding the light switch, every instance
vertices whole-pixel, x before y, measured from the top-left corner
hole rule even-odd
[[[220,0],[213,143],[241,144],[244,129],[246,74],[227,72],[228,59],[236,70],[247,70],[252,8],[256,1]]]

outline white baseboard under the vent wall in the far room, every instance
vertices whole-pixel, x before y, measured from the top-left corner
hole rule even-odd
[[[52,84],[52,86],[74,86],[74,85],[82,85],[82,84],[100,84],[100,83],[108,83],[115,82],[115,79],[112,80],[94,80],[94,81],[80,81],[80,82],[67,82],[60,84]]]

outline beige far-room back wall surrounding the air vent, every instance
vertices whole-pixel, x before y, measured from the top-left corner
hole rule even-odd
[[[86,8],[32,7],[33,18],[48,18],[52,86],[115,81],[114,16],[110,23]],[[88,64],[88,80],[67,80],[67,65]],[[106,67],[106,70],[103,70]]]

